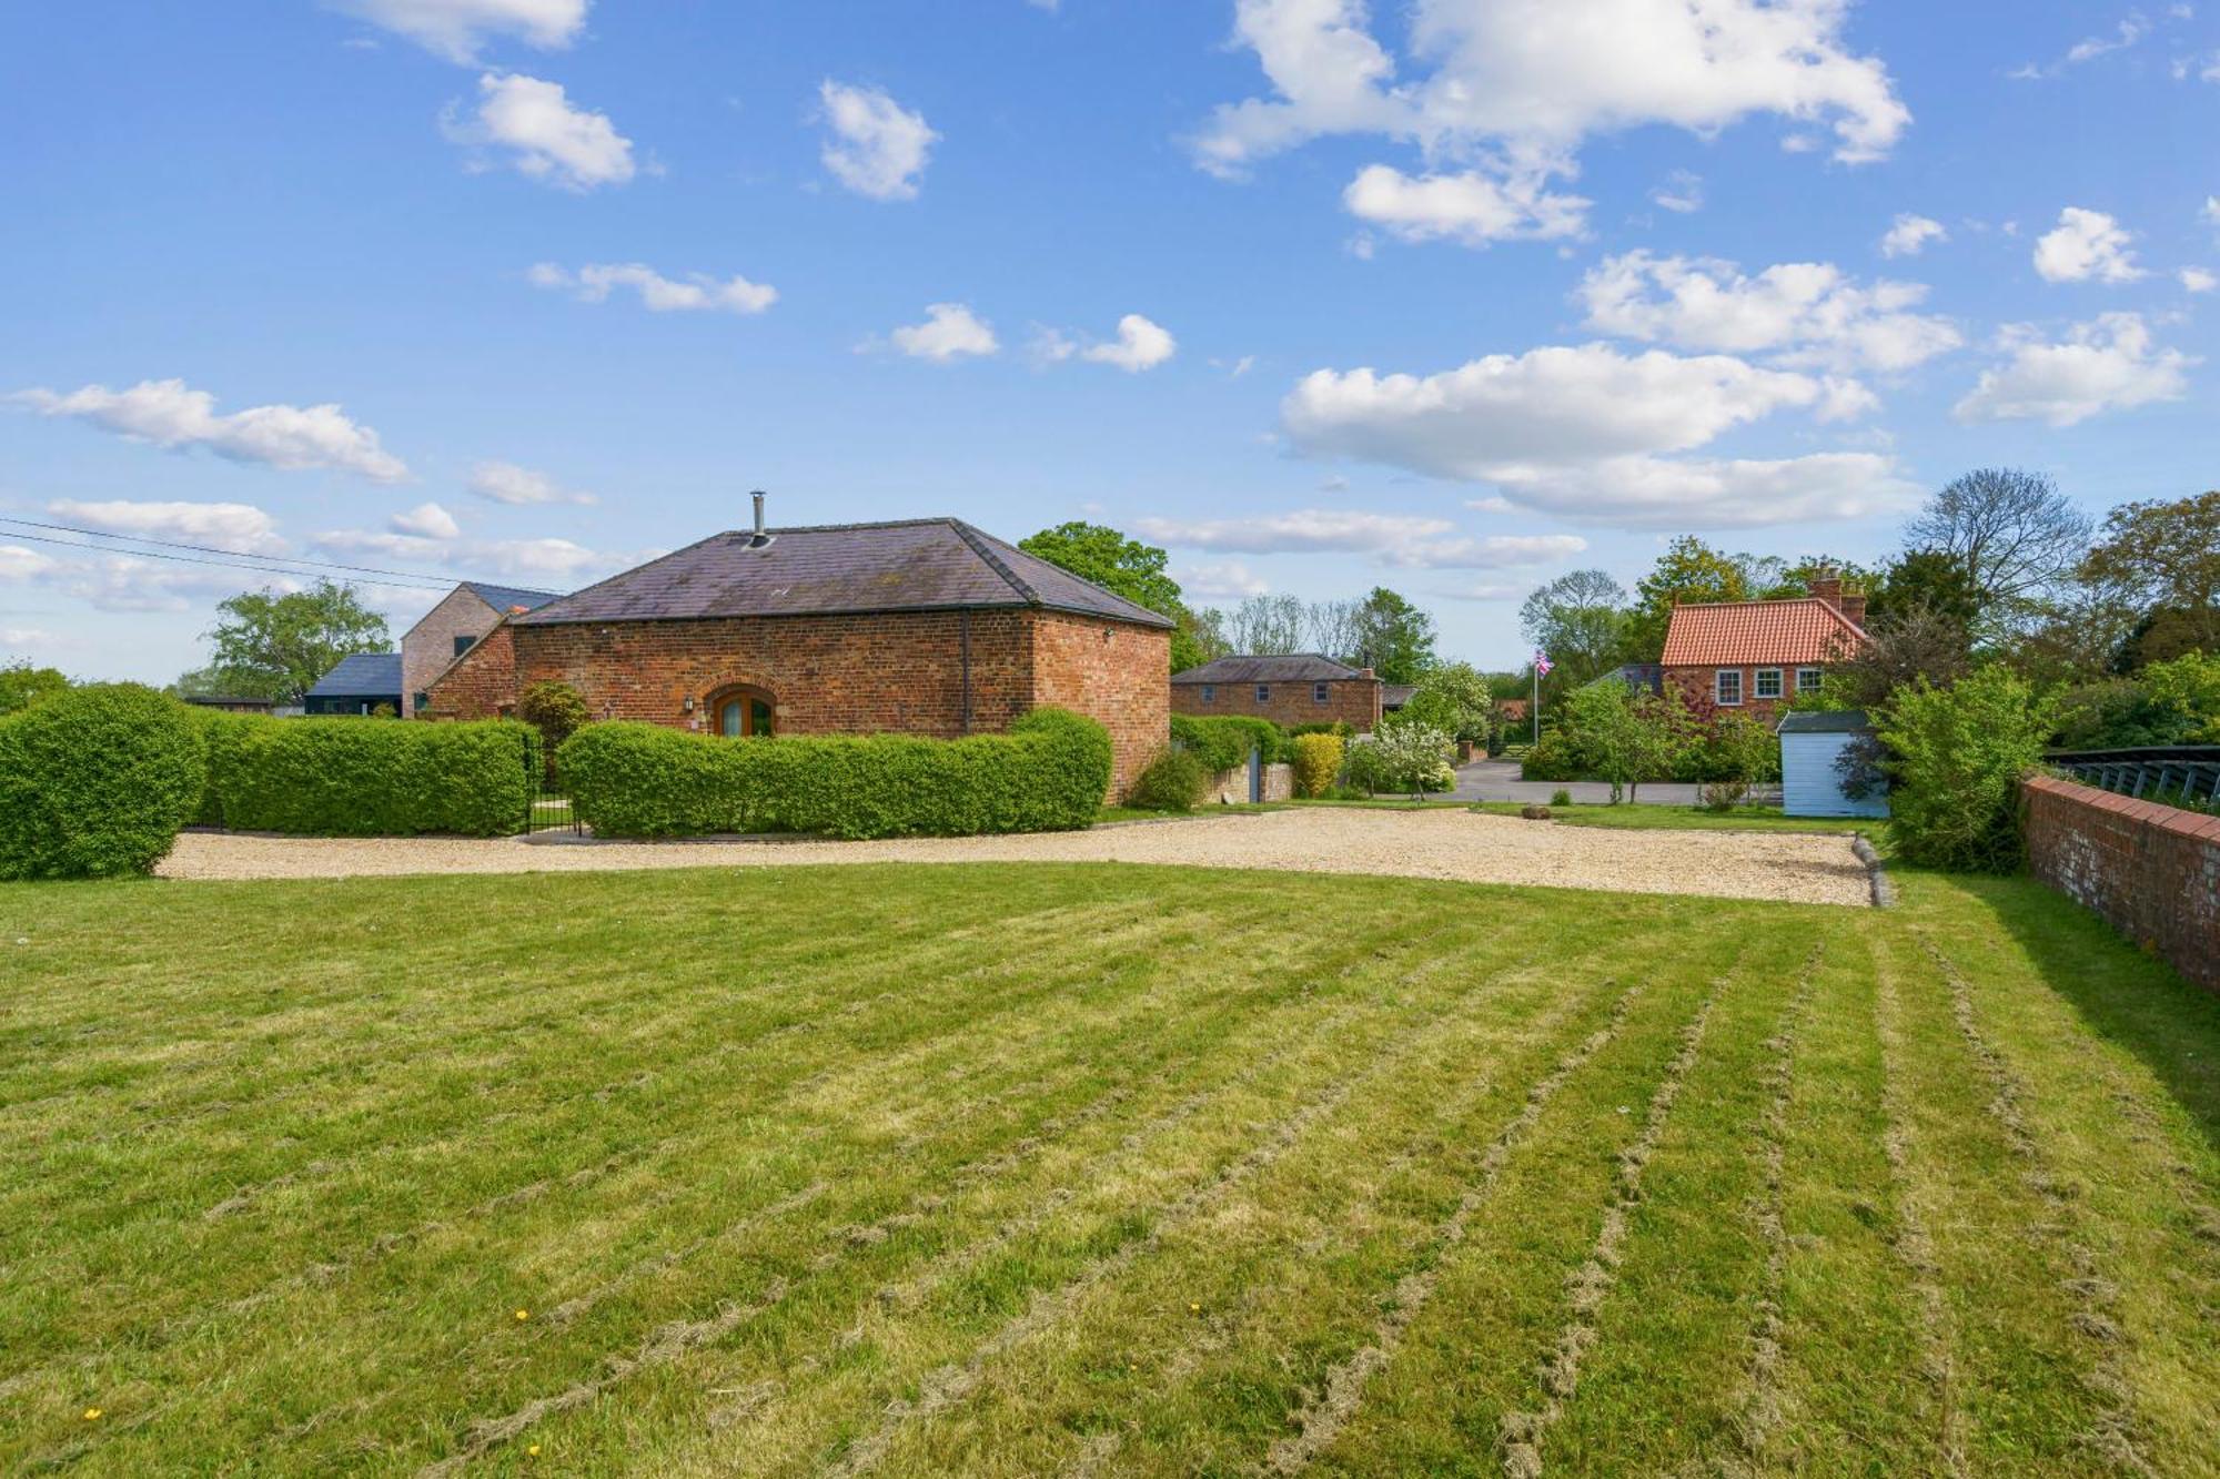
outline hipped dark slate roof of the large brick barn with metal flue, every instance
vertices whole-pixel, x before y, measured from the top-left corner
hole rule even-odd
[[[744,529],[715,533],[511,620],[517,626],[555,626],[1030,606],[1172,626],[1170,617],[963,520],[813,524],[766,533],[770,540],[761,546]]]

